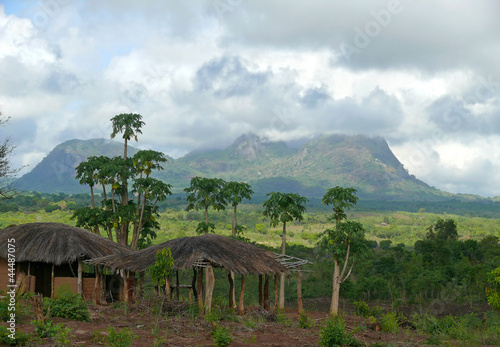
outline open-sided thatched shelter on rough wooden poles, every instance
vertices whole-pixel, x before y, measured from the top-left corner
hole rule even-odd
[[[134,252],[133,254],[106,256],[90,260],[88,263],[104,265],[112,269],[120,269],[133,273],[143,272],[149,265],[155,263],[157,252],[164,248],[170,248],[172,252],[174,270],[193,269],[193,282],[189,287],[193,289],[200,308],[203,308],[201,293],[203,288],[203,269],[206,269],[205,308],[207,310],[210,310],[212,300],[215,280],[214,267],[224,268],[228,272],[242,276],[240,310],[243,307],[245,275],[259,275],[260,279],[262,276],[265,276],[264,293],[259,296],[262,297],[265,306],[265,301],[268,301],[268,277],[270,275],[289,272],[286,266],[274,259],[272,252],[240,240],[214,234],[173,239]],[[231,292],[232,288],[234,288],[234,281],[231,276],[228,276],[228,279]],[[179,288],[178,284],[173,287],[177,288],[177,290]],[[235,305],[235,302],[231,303],[231,296],[230,304]]]

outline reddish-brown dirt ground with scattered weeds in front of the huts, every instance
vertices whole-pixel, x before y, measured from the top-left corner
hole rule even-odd
[[[328,304],[313,301],[306,305],[314,308],[319,306],[321,311],[328,309]],[[130,305],[127,309],[113,308],[112,306],[90,307],[91,322],[77,322],[62,318],[53,318],[55,323],[64,323],[72,329],[73,346],[104,346],[104,343],[96,342],[95,331],[107,334],[108,327],[116,330],[130,328],[136,338],[132,346],[153,346],[155,341],[158,346],[214,346],[211,332],[215,324],[205,319],[192,318],[187,315],[177,315],[168,319],[160,319],[157,323],[156,334],[154,334],[155,318],[150,311],[140,305]],[[349,313],[350,308],[345,307]],[[320,326],[327,317],[326,312],[319,310],[307,311],[314,322],[314,327],[301,329],[298,325],[299,315],[295,309],[285,310],[287,324],[273,321],[269,316],[263,315],[262,310],[256,307],[246,309],[245,315],[240,322],[222,320],[219,326],[229,327],[233,338],[230,346],[318,346],[318,335]],[[246,321],[252,320],[253,324]],[[425,346],[428,338],[425,334],[416,332],[411,327],[401,328],[397,334],[388,334],[379,331],[377,324],[368,319],[345,315],[347,331],[366,346],[373,344],[386,344],[391,346]],[[24,324],[18,324],[17,329],[26,333],[34,333],[30,319],[25,319]],[[42,339],[35,346],[56,346],[54,340]]]

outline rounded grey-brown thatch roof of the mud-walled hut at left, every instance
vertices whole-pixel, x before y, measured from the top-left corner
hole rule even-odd
[[[62,223],[28,223],[0,230],[0,258],[7,258],[7,240],[15,239],[16,262],[61,265],[131,251],[100,235]]]

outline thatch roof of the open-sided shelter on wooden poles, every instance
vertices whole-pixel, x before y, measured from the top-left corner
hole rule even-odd
[[[191,269],[210,263],[237,274],[275,274],[288,269],[274,260],[272,252],[230,237],[205,234],[182,237],[136,251],[133,254],[114,255],[93,259],[90,264],[105,265],[112,269],[143,271],[155,263],[158,250],[170,248],[174,270]]]

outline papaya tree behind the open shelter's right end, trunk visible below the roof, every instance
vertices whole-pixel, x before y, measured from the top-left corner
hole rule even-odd
[[[262,214],[271,219],[271,226],[276,227],[283,223],[283,233],[281,235],[281,254],[286,251],[286,224],[294,220],[304,219],[306,212],[307,198],[297,193],[271,192],[267,194],[267,200],[264,201],[264,211]],[[281,274],[279,307],[285,307],[285,274]]]

